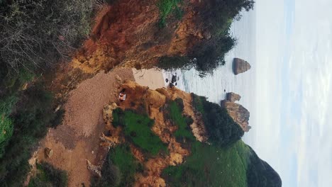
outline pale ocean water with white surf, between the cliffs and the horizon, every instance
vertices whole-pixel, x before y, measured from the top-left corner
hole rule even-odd
[[[177,87],[187,92],[205,96],[209,101],[220,104],[227,92],[240,94],[239,103],[250,111],[250,125],[255,123],[255,11],[243,12],[240,21],[233,22],[231,33],[238,39],[236,47],[226,55],[226,64],[213,74],[199,77],[195,69],[175,72],[179,76]],[[233,58],[238,57],[250,63],[251,69],[243,74],[233,74]],[[164,72],[171,77],[175,72]]]

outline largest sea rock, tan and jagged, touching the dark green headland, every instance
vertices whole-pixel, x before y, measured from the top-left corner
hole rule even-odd
[[[249,126],[249,111],[241,106],[238,103],[234,103],[231,101],[223,100],[221,101],[221,107],[226,108],[228,114],[233,118],[233,120],[240,125],[244,132],[248,132],[250,130]]]

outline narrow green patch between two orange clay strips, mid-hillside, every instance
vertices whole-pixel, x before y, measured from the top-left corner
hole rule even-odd
[[[175,137],[186,138],[189,140],[195,140],[194,135],[192,135],[192,130],[190,126],[193,123],[192,118],[182,115],[183,111],[183,101],[182,98],[177,98],[175,101],[170,102],[170,119],[178,126],[177,131],[175,131]]]

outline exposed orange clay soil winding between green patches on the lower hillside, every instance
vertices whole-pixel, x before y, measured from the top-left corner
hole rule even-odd
[[[191,115],[194,119],[194,124],[192,125],[194,135],[197,137],[197,140],[205,141],[206,133],[204,125],[197,123],[195,114],[192,111],[192,97],[190,94],[176,88],[162,88],[155,91],[148,87],[140,86],[133,81],[125,81],[118,90],[122,89],[126,89],[127,99],[126,101],[118,102],[118,107],[122,109],[138,109],[143,106],[148,112],[149,117],[155,120],[155,124],[152,128],[153,132],[160,137],[162,142],[168,145],[170,152],[167,156],[158,155],[157,157],[145,158],[144,154],[140,152],[140,149],[131,145],[133,155],[144,165],[143,168],[145,169],[143,174],[136,174],[134,186],[166,186],[165,180],[161,178],[162,170],[167,166],[175,166],[184,162],[184,157],[189,155],[189,150],[184,149],[184,147],[176,141],[173,132],[177,130],[177,126],[164,118],[160,107],[164,106],[167,100],[174,100],[177,97],[181,97],[184,101],[184,114]],[[111,105],[114,105],[114,103]],[[106,124],[108,124],[108,130],[114,130],[115,128],[111,125],[112,118],[109,117],[105,119]],[[124,137],[117,137],[118,135],[121,135],[121,133],[111,132],[111,136],[108,138],[109,140],[124,140]]]

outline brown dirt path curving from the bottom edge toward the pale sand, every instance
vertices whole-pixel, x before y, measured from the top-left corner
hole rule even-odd
[[[69,186],[82,186],[83,183],[89,186],[91,174],[87,170],[87,159],[92,164],[99,164],[106,155],[106,150],[99,147],[99,135],[104,131],[102,109],[117,100],[116,75],[122,80],[134,80],[131,69],[114,69],[82,81],[70,92],[62,125],[50,129],[41,142],[38,161],[68,171]],[[45,147],[53,150],[51,158],[45,157]]]

